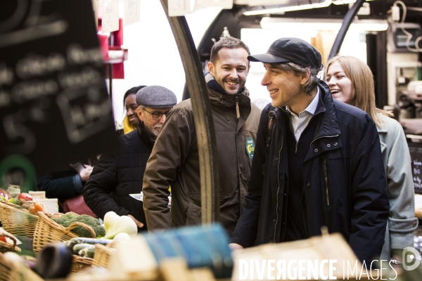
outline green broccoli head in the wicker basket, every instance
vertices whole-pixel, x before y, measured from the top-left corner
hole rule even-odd
[[[93,218],[92,216],[77,216],[75,214],[64,214],[60,218],[51,219],[53,221],[56,221],[56,223],[60,224],[60,226],[64,226],[65,228],[75,222],[85,223],[87,226],[91,226],[91,228],[95,232],[96,237],[103,237],[104,235],[106,235],[106,230],[103,228],[103,226],[101,226],[100,221],[98,221],[97,218]],[[72,233],[75,233],[79,237],[92,237],[91,233],[85,228],[82,228],[82,226],[77,226],[76,228],[73,228]]]

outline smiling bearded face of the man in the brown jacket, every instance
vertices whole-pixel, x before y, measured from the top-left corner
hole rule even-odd
[[[222,48],[215,63],[208,63],[215,81],[229,95],[243,91],[249,68],[248,52],[244,48]]]

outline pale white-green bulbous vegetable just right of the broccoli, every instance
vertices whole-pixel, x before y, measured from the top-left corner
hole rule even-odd
[[[104,228],[106,235],[104,238],[113,239],[119,233],[127,233],[129,235],[136,235],[138,227],[132,218],[129,216],[119,216],[114,211],[108,211],[104,216]]]

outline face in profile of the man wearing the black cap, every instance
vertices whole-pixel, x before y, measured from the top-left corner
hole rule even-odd
[[[305,105],[304,101],[309,99],[309,95],[301,89],[301,86],[309,79],[309,74],[286,72],[271,66],[269,63],[264,63],[264,67],[266,72],[261,84],[267,87],[269,97],[272,100],[271,104],[274,107],[288,105],[294,112],[301,110]]]

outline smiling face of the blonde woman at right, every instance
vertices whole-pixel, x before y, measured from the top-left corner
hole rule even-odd
[[[330,87],[331,95],[336,100],[354,105],[355,91],[352,81],[347,77],[343,66],[338,60],[332,63],[327,70],[326,82]]]

